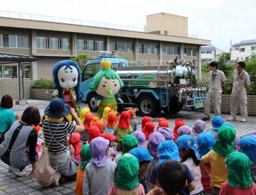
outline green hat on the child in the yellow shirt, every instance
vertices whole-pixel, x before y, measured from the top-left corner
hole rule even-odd
[[[222,126],[218,129],[216,143],[213,146],[214,152],[218,155],[226,157],[230,152],[234,151],[236,132],[230,126]]]

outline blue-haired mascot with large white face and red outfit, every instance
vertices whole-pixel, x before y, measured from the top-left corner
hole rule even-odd
[[[54,88],[52,96],[63,99],[70,107],[80,113],[80,91],[81,73],[77,62],[72,60],[61,60],[53,67]]]

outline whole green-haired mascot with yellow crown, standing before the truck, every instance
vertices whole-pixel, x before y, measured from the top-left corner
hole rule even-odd
[[[117,100],[123,103],[119,94],[119,89],[124,87],[124,83],[119,75],[111,69],[110,61],[100,62],[102,70],[95,75],[93,82],[90,83],[90,89],[96,91],[97,96],[97,116],[101,117],[104,108],[110,107],[117,111]]]

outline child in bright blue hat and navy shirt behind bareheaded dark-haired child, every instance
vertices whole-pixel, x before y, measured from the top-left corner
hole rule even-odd
[[[159,144],[158,149],[159,149],[159,165],[154,167],[151,177],[149,179],[149,182],[151,182],[151,184],[154,184],[154,185],[156,185],[157,175],[159,174],[159,168],[164,162],[168,160],[176,160],[176,161],[180,160],[180,157],[178,155],[178,147],[173,141],[165,140],[164,142]],[[193,182],[194,178],[190,170],[188,169],[188,166],[183,163],[181,166],[183,167],[183,174],[186,177],[187,184],[180,194],[189,194],[190,191],[193,191],[196,188],[196,184],[195,182]]]

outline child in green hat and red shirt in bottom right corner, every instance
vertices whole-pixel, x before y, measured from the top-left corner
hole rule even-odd
[[[228,182],[220,189],[220,195],[255,195],[256,184],[250,174],[250,159],[241,152],[232,152],[225,160]]]

